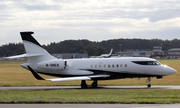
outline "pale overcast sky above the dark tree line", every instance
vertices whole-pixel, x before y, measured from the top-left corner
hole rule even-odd
[[[0,0],[0,45],[33,31],[41,44],[67,39],[180,39],[180,0]]]

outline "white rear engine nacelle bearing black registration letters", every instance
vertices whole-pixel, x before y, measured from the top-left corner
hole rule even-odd
[[[58,59],[58,60],[49,60],[38,63],[39,69],[47,69],[47,70],[63,70],[65,69],[65,61]]]

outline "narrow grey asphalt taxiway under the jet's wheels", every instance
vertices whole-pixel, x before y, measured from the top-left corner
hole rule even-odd
[[[80,86],[29,86],[29,87],[0,87],[0,90],[60,90],[60,89],[81,89]],[[88,87],[87,89],[180,89],[180,85],[166,86],[99,86],[97,88]]]

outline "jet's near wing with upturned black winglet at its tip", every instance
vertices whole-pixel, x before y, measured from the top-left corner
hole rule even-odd
[[[31,73],[38,80],[50,80],[50,81],[72,81],[72,80],[92,80],[93,78],[106,78],[110,75],[90,75],[90,76],[79,76],[79,77],[67,77],[67,78],[53,78],[53,79],[44,79],[42,78],[35,70],[28,66]]]

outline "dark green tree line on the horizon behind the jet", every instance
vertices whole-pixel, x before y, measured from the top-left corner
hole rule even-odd
[[[51,42],[48,45],[42,45],[49,53],[88,53],[89,56],[97,56],[125,49],[152,49],[153,46],[162,46],[167,51],[171,48],[180,48],[180,39],[161,40],[161,39],[111,39],[101,42],[82,40],[65,40],[60,42]],[[0,57],[24,54],[22,43],[9,43],[0,46]]]

